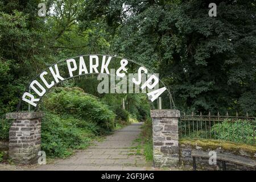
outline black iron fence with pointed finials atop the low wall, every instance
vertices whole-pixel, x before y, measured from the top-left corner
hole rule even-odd
[[[180,138],[203,138],[229,140],[238,143],[255,144],[256,118],[226,115],[186,115],[181,113],[179,121]]]

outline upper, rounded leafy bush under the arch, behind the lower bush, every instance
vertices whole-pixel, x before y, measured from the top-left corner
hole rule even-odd
[[[99,134],[109,133],[114,128],[113,111],[80,88],[55,88],[44,100],[44,107],[56,114],[68,113],[86,122],[95,122]]]

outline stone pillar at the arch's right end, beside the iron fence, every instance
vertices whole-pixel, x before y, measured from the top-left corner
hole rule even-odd
[[[151,110],[154,165],[176,166],[179,162],[179,110]]]

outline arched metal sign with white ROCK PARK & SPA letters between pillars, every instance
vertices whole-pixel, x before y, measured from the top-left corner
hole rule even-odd
[[[133,85],[139,86],[144,93],[147,93],[148,99],[152,102],[164,92],[168,92],[170,102],[173,103],[170,91],[159,79],[158,74],[150,72],[142,64],[118,56],[82,55],[72,57],[51,65],[33,78],[27,86],[26,91],[22,94],[17,110],[22,109],[22,105],[24,104],[32,106],[34,110],[37,110],[40,100],[53,86],[69,78],[89,74],[97,74],[100,80],[108,75],[118,77],[120,82],[123,80],[122,84],[125,84],[125,81],[129,80],[129,90],[127,91],[125,86],[119,84],[122,87],[119,93],[131,93],[134,91]],[[104,84],[101,83],[101,85]],[[100,92],[113,93],[112,90],[117,89],[115,87],[110,85],[109,92],[105,85],[103,92],[102,89]],[[98,86],[98,88],[101,88],[101,86]]]

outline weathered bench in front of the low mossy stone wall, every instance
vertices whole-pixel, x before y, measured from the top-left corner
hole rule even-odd
[[[191,151],[191,156],[193,158],[193,169],[194,169],[194,171],[196,170],[196,157],[210,158],[208,152],[200,151],[200,150],[192,150]],[[222,170],[223,171],[226,171],[226,162],[230,162],[230,163],[250,167],[250,168],[253,168],[254,170],[256,168],[256,161],[253,160],[253,159],[245,158],[245,157],[238,156],[238,155],[220,154],[220,153],[217,153],[216,157],[217,157],[216,160],[221,160],[222,161]]]

